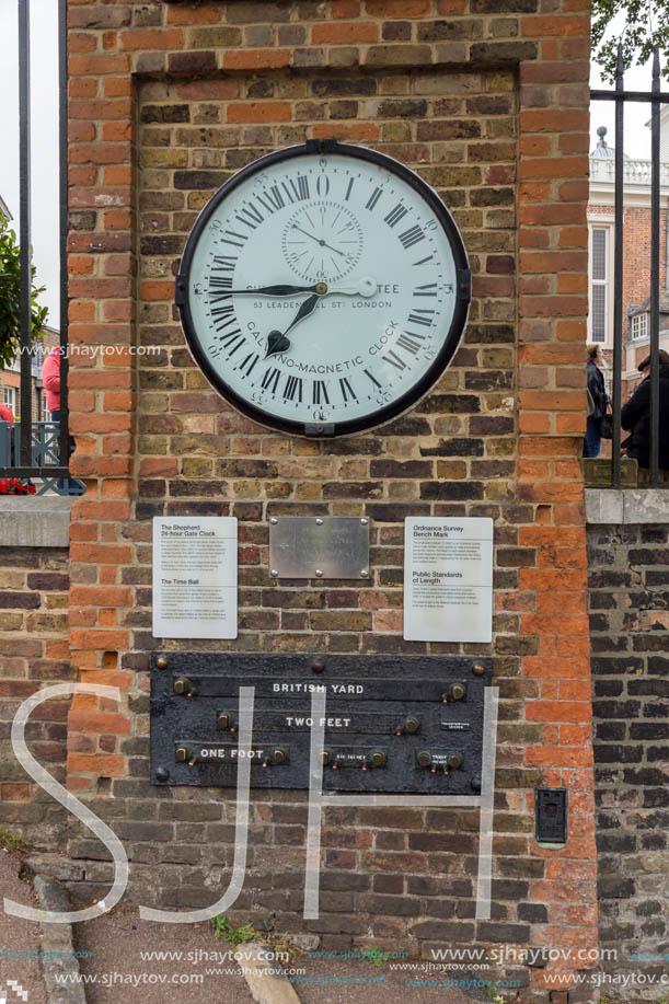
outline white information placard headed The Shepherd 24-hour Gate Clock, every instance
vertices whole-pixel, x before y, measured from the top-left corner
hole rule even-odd
[[[237,517],[153,519],[153,637],[237,638]]]

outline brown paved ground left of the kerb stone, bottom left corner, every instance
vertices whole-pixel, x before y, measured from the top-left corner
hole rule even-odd
[[[0,900],[7,897],[26,907],[34,907],[35,898],[30,885],[19,879],[21,862],[9,851],[0,849]],[[36,958],[26,959],[20,954],[39,950],[39,932],[32,921],[10,916],[0,909],[0,1000],[7,996],[7,1004],[20,1004],[22,997],[15,986],[8,986],[14,981],[27,992],[28,1004],[45,1004],[46,993],[42,983],[42,969]],[[8,958],[8,953],[16,953],[18,958]]]

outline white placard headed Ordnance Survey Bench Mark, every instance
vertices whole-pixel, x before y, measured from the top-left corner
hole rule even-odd
[[[405,520],[404,637],[492,642],[492,519]]]

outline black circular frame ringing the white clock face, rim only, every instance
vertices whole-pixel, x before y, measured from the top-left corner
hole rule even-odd
[[[396,401],[383,405],[378,411],[373,413],[370,412],[366,416],[345,419],[343,422],[336,423],[305,423],[282,418],[278,415],[273,415],[272,412],[267,412],[264,408],[257,407],[245,397],[242,397],[240,394],[238,394],[224,381],[221,373],[214,368],[210,359],[203,350],[195,328],[195,324],[193,323],[193,316],[188,302],[188,278],[191,266],[193,264],[193,256],[211,215],[219,207],[219,205],[230,195],[234,188],[238,187],[238,185],[245,182],[252,175],[257,174],[259,171],[264,171],[267,166],[280,163],[285,160],[295,160],[299,157],[313,155],[314,153],[337,153],[341,155],[368,161],[370,163],[385,168],[388,171],[391,171],[402,181],[406,182],[407,185],[414,188],[430,206],[448,238],[451,253],[453,255],[457,276],[455,308],[448,334],[443,339],[441,349],[432,360],[431,365],[425,371],[423,377],[412,388],[401,394]],[[415,407],[416,404],[418,404],[431,391],[436,382],[449,366],[450,361],[455,355],[458,346],[460,345],[460,339],[462,337],[462,333],[464,332],[470,301],[472,298],[471,289],[471,272],[469,268],[464,243],[460,236],[460,231],[458,230],[458,227],[449,210],[443,205],[434,188],[431,188],[427,182],[424,182],[423,178],[419,177],[414,171],[410,170],[400,161],[396,161],[394,158],[389,157],[387,153],[379,153],[378,151],[369,150],[366,147],[354,147],[349,143],[339,143],[335,139],[325,139],[308,140],[305,143],[301,143],[295,147],[286,147],[282,150],[267,153],[265,157],[261,157],[258,160],[255,160],[247,164],[245,168],[242,168],[237,172],[237,174],[234,174],[231,178],[221,185],[221,187],[211,196],[207,205],[201,209],[197,220],[195,221],[193,230],[188,235],[188,240],[186,241],[186,246],[181,259],[178,274],[176,276],[175,302],[180,310],[182,327],[186,336],[186,343],[191,350],[191,355],[193,356],[199,369],[206,376],[209,383],[212,385],[214,390],[220,394],[221,397],[228,401],[242,415],[245,415],[253,422],[257,422],[259,425],[265,426],[266,428],[270,428],[272,430],[278,430],[280,432],[286,432],[293,436],[330,438],[333,436],[350,436],[357,432],[376,429],[379,426],[382,426],[385,423],[400,417],[400,415],[403,415],[412,407]]]

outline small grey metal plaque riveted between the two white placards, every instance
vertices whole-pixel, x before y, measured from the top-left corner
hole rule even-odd
[[[369,519],[273,516],[269,574],[289,579],[368,578]]]

